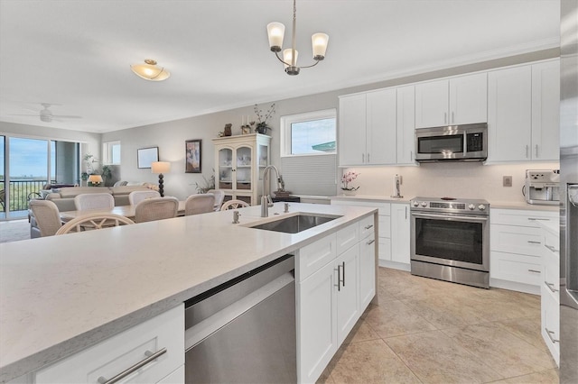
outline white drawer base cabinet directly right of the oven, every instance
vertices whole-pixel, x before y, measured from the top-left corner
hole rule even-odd
[[[489,220],[489,285],[539,295],[544,248],[539,222],[557,222],[558,213],[492,208]]]

